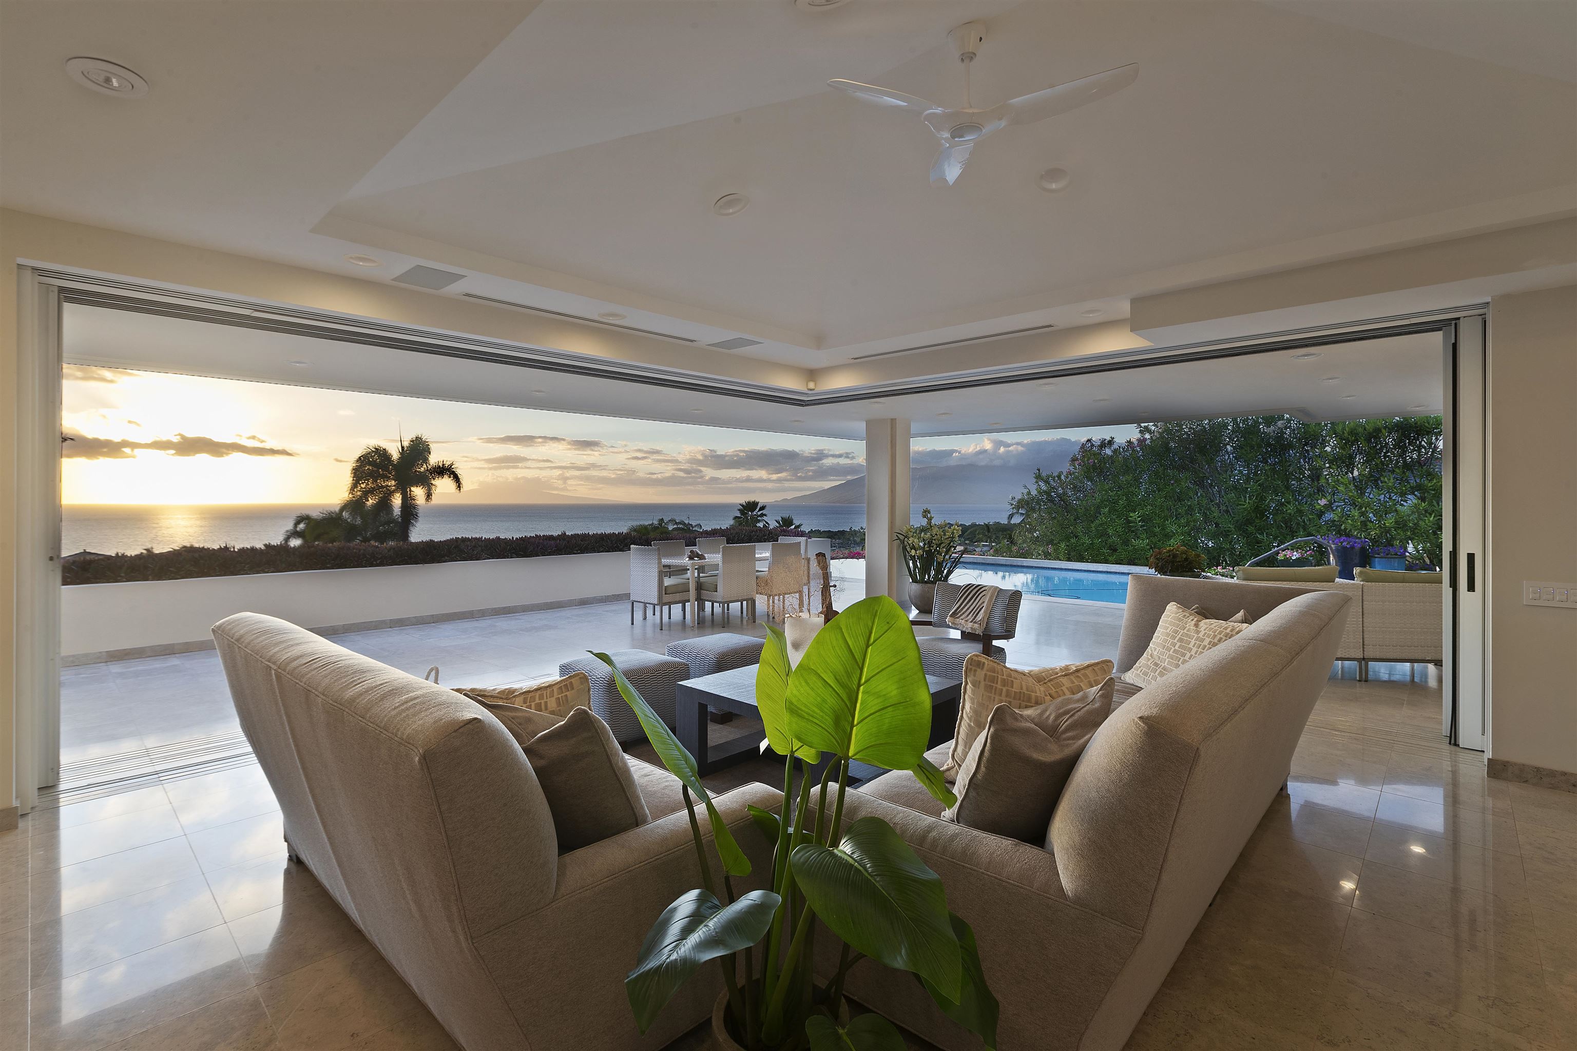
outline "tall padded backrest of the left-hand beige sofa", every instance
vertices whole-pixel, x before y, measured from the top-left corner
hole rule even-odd
[[[459,693],[285,621],[241,613],[213,635],[312,871],[462,1043],[520,1042],[472,945],[554,892],[552,816],[516,741]]]

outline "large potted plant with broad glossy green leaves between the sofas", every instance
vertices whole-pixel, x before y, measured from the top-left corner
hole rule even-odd
[[[618,692],[664,766],[683,783],[700,862],[702,887],[658,917],[624,979],[636,1024],[645,1032],[695,971],[718,961],[724,993],[714,1029],[724,1048],[900,1051],[902,1035],[880,1015],[847,1021],[844,979],[869,958],[912,972],[949,1018],[994,1048],[998,1005],[975,933],[948,909],[941,878],[886,821],[844,823],[852,761],[912,771],[938,800],[956,802],[941,772],[924,758],[930,690],[915,629],[893,599],[872,596],[828,622],[793,668],[782,633],[771,626],[766,632],[755,701],[768,745],[784,756],[784,793],[777,813],[751,807],[755,830],[773,846],[773,867],[765,873],[768,889],[747,893],[735,893],[733,879],[747,876],[751,862],[713,807],[695,759],[618,665],[596,654],[613,670]],[[823,753],[828,761],[817,785],[812,767]],[[721,897],[697,800],[722,865]],[[792,819],[784,821],[785,815]],[[842,942],[839,966],[825,980],[814,969],[818,928]]]

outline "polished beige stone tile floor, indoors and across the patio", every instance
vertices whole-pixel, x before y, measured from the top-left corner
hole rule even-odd
[[[1027,600],[1009,660],[1110,654],[1120,616]],[[445,684],[497,684],[552,674],[588,646],[661,651],[678,637],[583,607],[336,641],[418,674],[437,663]],[[117,709],[74,712],[73,747],[156,748],[183,711],[205,733],[226,726],[213,654],[76,668],[68,682]],[[1333,678],[1290,794],[1129,1046],[1577,1048],[1577,796],[1487,780],[1482,756],[1440,744],[1440,690],[1405,665]],[[0,834],[0,1048],[453,1043],[285,862],[274,799],[241,766],[39,810]]]

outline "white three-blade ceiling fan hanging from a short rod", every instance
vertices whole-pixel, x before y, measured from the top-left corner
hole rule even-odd
[[[986,24],[967,22],[948,33],[959,61],[964,63],[964,109],[945,109],[935,102],[878,88],[856,80],[828,80],[839,91],[848,91],[858,99],[877,106],[893,106],[919,113],[919,118],[941,140],[941,151],[930,165],[932,186],[953,186],[964,172],[964,162],[970,159],[975,143],[1008,124],[1031,124],[1047,117],[1057,117],[1068,110],[1079,109],[1087,102],[1094,102],[1113,91],[1121,91],[1139,79],[1139,65],[1118,66],[1090,77],[1058,84],[1033,95],[1023,95],[990,109],[973,109],[970,102],[970,63],[975,54],[986,43]]]

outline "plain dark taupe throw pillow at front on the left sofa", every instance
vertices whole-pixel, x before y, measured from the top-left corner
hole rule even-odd
[[[560,854],[651,821],[624,753],[591,709],[574,707],[531,737],[525,758],[554,813]]]

